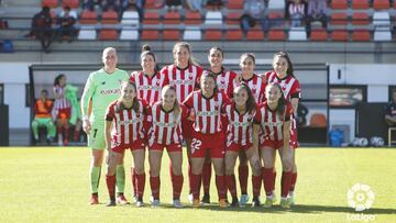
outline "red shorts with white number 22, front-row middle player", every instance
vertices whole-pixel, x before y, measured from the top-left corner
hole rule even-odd
[[[216,134],[202,134],[193,132],[191,140],[191,158],[205,158],[207,152],[210,153],[211,158],[224,157],[224,135],[220,133]]]

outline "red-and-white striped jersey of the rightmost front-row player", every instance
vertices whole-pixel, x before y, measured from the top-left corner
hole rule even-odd
[[[284,122],[290,121],[293,107],[286,103],[285,115],[279,115],[277,111],[272,111],[266,102],[258,105],[254,122],[261,125],[264,140],[283,141]]]

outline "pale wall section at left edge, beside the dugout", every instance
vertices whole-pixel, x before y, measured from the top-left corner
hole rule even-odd
[[[10,129],[30,127],[30,108],[25,107],[29,66],[30,64],[25,63],[0,63],[0,82],[4,83],[4,103],[9,105]]]

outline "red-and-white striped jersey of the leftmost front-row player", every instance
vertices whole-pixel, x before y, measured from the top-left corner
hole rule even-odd
[[[113,101],[106,112],[106,121],[113,122],[111,136],[112,146],[128,146],[144,138],[143,120],[148,104],[138,99],[139,112],[133,109],[119,110],[119,101]],[[119,110],[119,111],[118,111]]]

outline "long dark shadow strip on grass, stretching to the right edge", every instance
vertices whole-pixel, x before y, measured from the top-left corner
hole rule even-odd
[[[150,205],[147,205],[150,208]],[[174,207],[168,204],[161,204],[160,209],[173,209]],[[396,209],[370,209],[363,212],[355,212],[352,208],[349,207],[334,207],[334,205],[307,205],[307,204],[297,204],[290,209],[283,209],[279,205],[274,205],[273,208],[252,208],[246,205],[244,208],[220,208],[217,204],[202,205],[200,208],[193,208],[191,205],[185,205],[180,210],[208,210],[208,211],[231,211],[231,212],[262,212],[262,213],[311,213],[311,214],[321,214],[321,213],[364,213],[364,214],[396,214]]]

